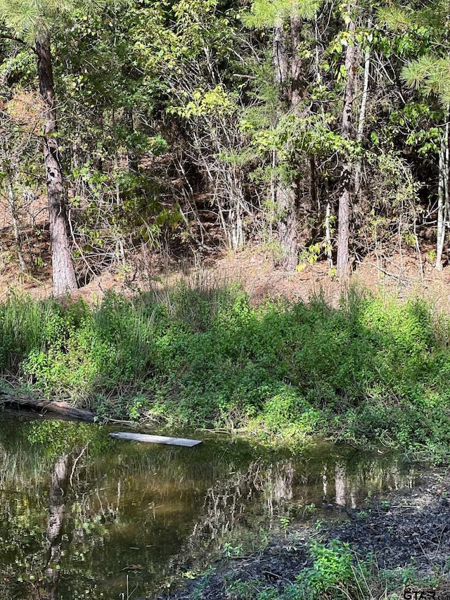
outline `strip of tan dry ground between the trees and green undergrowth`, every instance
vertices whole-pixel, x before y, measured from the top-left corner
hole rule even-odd
[[[0,230],[0,240],[1,233]],[[11,290],[24,291],[32,298],[51,296],[51,259],[45,241],[41,241],[39,253],[41,260],[32,274],[21,273],[11,241],[0,243],[0,301]],[[375,294],[394,294],[399,298],[425,296],[439,309],[447,311],[450,305],[450,266],[438,272],[430,255],[432,245],[423,248],[422,264],[411,248],[403,253],[393,251],[389,256],[373,253],[356,264],[352,281]],[[101,274],[91,276],[72,296],[92,303],[101,300],[110,290],[129,296],[139,291],[172,286],[179,280],[204,288],[209,284],[217,287],[239,282],[255,305],[267,298],[278,297],[293,302],[305,301],[319,292],[330,305],[335,305],[342,293],[342,286],[330,276],[326,261],[301,264],[297,271],[288,272],[274,266],[264,245],[253,245],[240,253],[217,251],[184,260],[175,260],[161,253],[136,254],[124,264],[105,268]]]

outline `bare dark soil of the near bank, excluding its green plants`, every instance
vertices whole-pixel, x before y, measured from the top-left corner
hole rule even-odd
[[[156,596],[155,600],[231,600],[226,586],[233,581],[258,580],[281,592],[289,582],[295,582],[302,569],[311,566],[307,547],[312,538],[323,543],[334,539],[349,542],[360,559],[373,554],[378,572],[393,570],[399,590],[405,568],[413,566],[420,578],[438,574],[441,582],[436,592],[420,586],[411,589],[420,590],[422,598],[450,597],[447,494],[450,496],[450,475],[434,472],[424,476],[420,487],[389,492],[359,509],[330,505],[330,521],[322,524],[319,532],[312,525],[293,526],[285,535],[272,537],[264,551],[221,559],[206,581],[192,580],[181,591]]]

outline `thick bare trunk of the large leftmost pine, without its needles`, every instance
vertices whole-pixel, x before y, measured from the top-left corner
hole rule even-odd
[[[49,198],[51,264],[53,295],[59,296],[77,288],[70,253],[63,170],[58,149],[55,91],[51,65],[50,38],[36,40],[39,91],[44,101],[44,166]]]

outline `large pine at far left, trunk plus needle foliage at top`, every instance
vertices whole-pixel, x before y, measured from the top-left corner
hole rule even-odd
[[[54,0],[0,1],[0,18],[5,27],[0,36],[29,46],[37,58],[39,92],[44,102],[42,143],[49,202],[53,294],[55,296],[77,288],[68,235],[63,167],[58,146],[58,121],[51,55],[51,32],[60,21],[61,15],[68,13],[72,6],[71,3]]]

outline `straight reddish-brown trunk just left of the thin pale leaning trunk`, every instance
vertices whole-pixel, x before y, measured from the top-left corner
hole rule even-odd
[[[347,49],[345,51],[345,90],[344,90],[344,108],[342,110],[342,137],[349,140],[352,130],[352,110],[353,110],[353,87],[354,87],[354,20],[352,12],[354,5],[349,4],[349,37],[347,39]],[[350,198],[352,185],[352,170],[350,165],[349,153],[346,151],[344,164],[341,174],[341,193],[338,209],[338,258],[337,270],[338,277],[341,279],[349,275],[349,238],[350,238]]]

